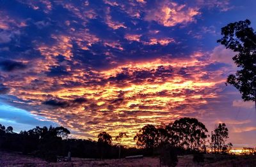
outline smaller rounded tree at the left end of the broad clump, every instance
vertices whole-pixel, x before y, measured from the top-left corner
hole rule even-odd
[[[133,139],[139,148],[152,149],[158,145],[157,134],[156,127],[148,124],[142,127]]]

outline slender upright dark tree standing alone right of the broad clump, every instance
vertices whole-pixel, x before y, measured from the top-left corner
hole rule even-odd
[[[223,147],[231,146],[232,143],[229,145],[225,145],[225,142],[228,138],[228,128],[226,127],[225,123],[219,124],[217,127],[215,127],[214,133],[212,134],[213,139],[213,146],[214,146],[214,152],[220,153],[220,151],[223,149]]]

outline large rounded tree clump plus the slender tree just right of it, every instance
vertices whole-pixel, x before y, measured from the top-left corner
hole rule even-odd
[[[157,148],[163,145],[180,148],[182,150],[207,152],[207,147],[212,147],[212,152],[224,153],[232,147],[232,143],[225,142],[228,138],[228,129],[225,123],[215,127],[211,141],[208,130],[202,122],[195,118],[184,117],[170,124],[161,124],[159,127],[146,125],[134,136],[134,141],[139,148]],[[207,145],[209,143],[209,145]]]

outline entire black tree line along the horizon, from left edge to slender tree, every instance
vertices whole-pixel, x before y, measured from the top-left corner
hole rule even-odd
[[[206,152],[207,147],[212,147],[213,152],[224,153],[232,146],[225,144],[228,138],[225,124],[216,126],[210,141],[205,125],[195,118],[188,117],[157,127],[151,124],[143,126],[134,136],[137,148],[122,145],[124,138],[129,137],[125,132],[112,138],[109,133],[103,131],[98,134],[97,141],[68,138],[69,134],[70,131],[62,126],[36,126],[28,131],[15,133],[13,127],[0,124],[0,149],[56,161],[56,156],[67,156],[67,152],[71,152],[73,157],[117,158],[138,154],[158,155],[159,150],[166,146],[179,149],[180,154]]]

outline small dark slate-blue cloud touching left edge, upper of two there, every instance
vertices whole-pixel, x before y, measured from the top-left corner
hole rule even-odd
[[[0,68],[2,71],[10,72],[15,70],[25,69],[26,64],[24,64],[23,62],[6,60],[6,61],[0,62]]]

